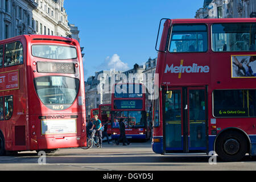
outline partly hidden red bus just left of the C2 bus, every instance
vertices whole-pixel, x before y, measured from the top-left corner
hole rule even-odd
[[[111,135],[111,104],[100,104],[98,106],[98,113],[103,125],[109,121],[107,133]]]

